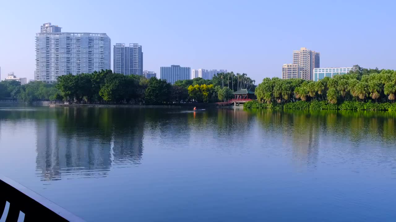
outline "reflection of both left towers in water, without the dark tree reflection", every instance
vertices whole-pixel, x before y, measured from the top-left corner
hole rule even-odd
[[[37,123],[36,167],[43,180],[106,177],[112,165],[140,163],[144,124],[120,126],[108,136],[97,136],[97,128],[81,129],[70,122]]]

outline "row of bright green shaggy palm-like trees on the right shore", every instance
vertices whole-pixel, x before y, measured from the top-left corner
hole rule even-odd
[[[396,99],[396,71],[363,69],[358,65],[344,75],[325,77],[317,82],[303,79],[265,78],[255,89],[262,103],[297,101],[394,102]]]

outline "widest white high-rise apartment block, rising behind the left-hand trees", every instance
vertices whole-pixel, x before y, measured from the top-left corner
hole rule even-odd
[[[45,23],[36,34],[34,79],[54,83],[61,75],[110,69],[111,40],[106,33],[61,32]]]

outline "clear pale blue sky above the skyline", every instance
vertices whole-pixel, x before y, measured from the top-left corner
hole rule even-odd
[[[281,77],[293,50],[321,53],[320,66],[396,69],[392,1],[10,1],[0,4],[1,78],[33,79],[34,36],[51,22],[63,32],[105,32],[139,43],[143,69],[178,64]],[[112,66],[111,66],[112,68]]]

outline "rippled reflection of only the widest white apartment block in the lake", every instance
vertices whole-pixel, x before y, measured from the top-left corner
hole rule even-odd
[[[109,142],[77,133],[61,134],[55,120],[38,122],[36,145],[36,167],[43,180],[102,177],[111,166]]]

